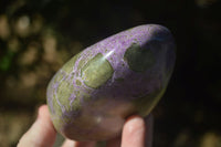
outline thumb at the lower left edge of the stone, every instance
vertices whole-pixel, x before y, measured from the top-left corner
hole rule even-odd
[[[21,137],[18,147],[52,147],[56,132],[50,118],[49,108],[39,108],[38,118],[31,128]]]

